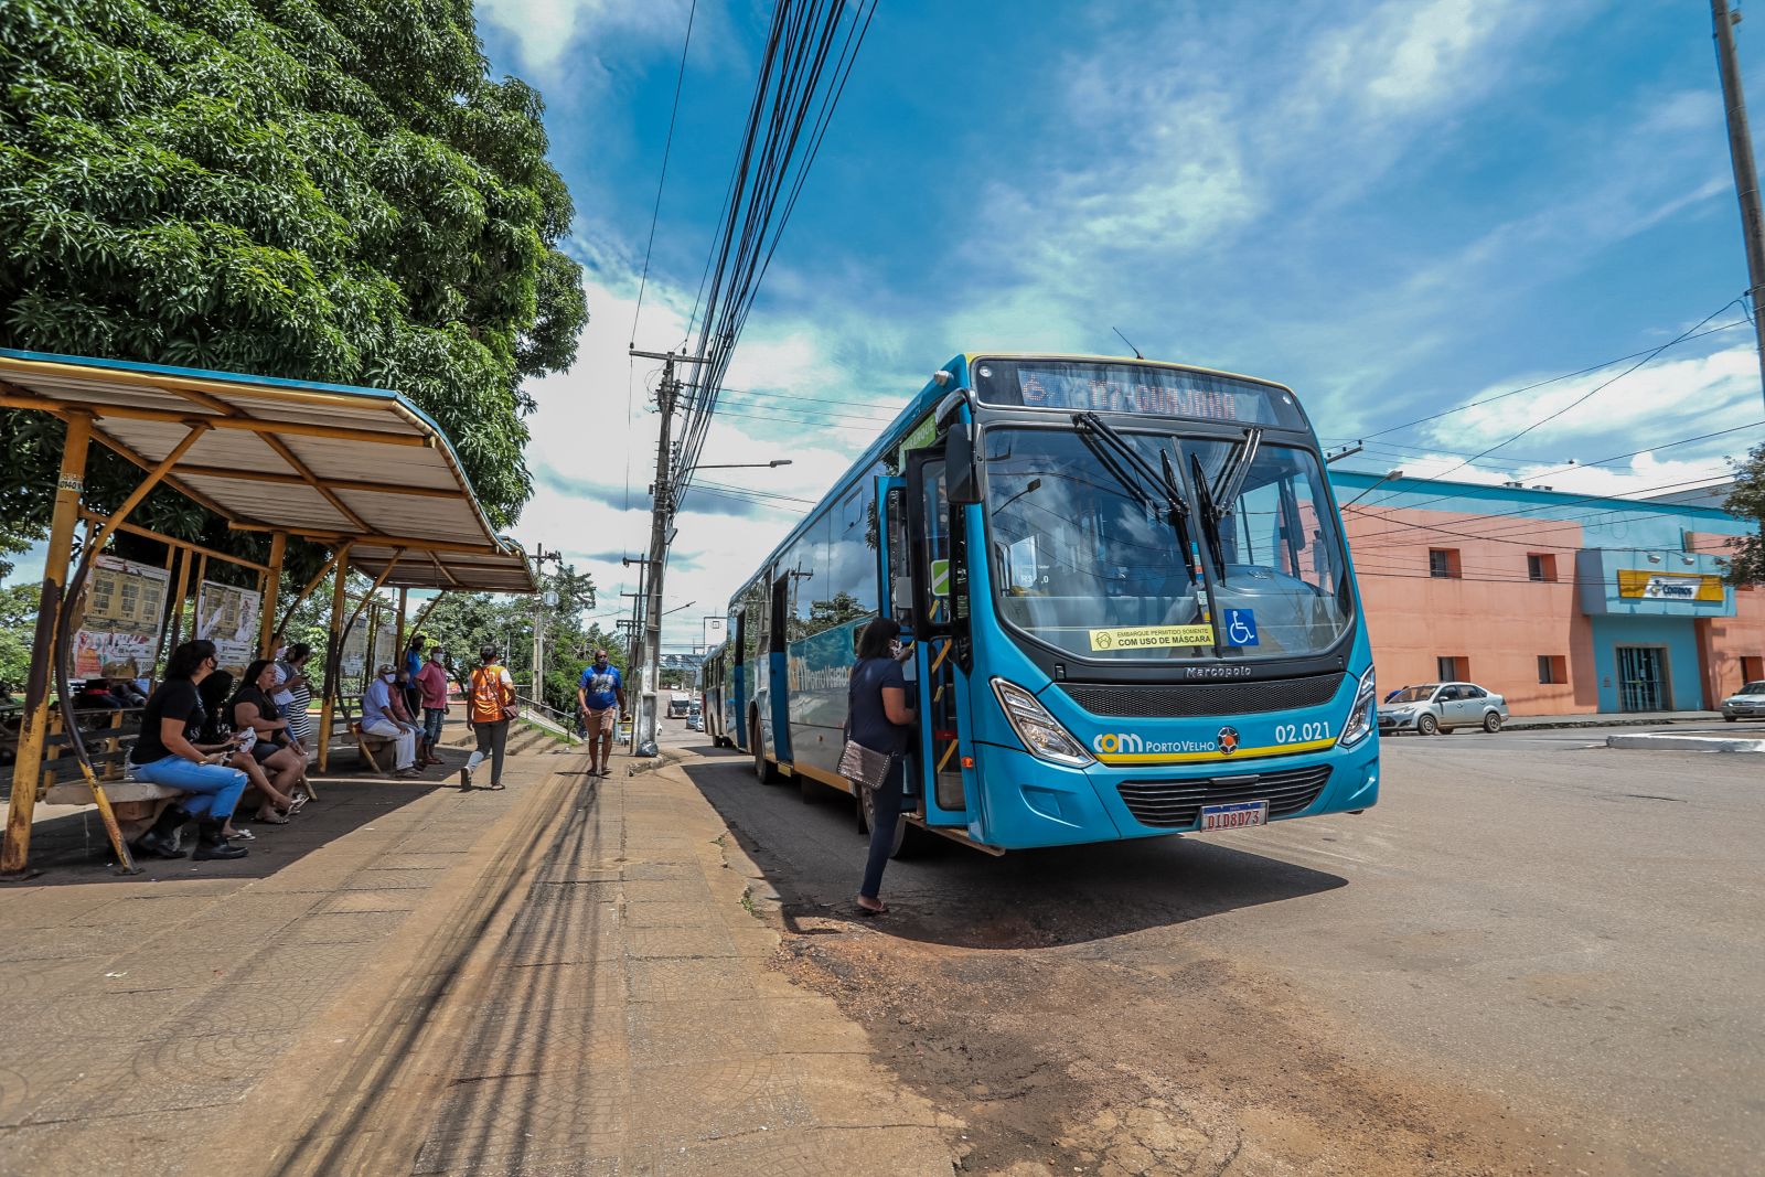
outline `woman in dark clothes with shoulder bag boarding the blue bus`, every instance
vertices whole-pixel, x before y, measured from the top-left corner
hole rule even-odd
[[[877,618],[858,639],[858,663],[847,692],[849,732],[872,752],[890,753],[888,775],[872,791],[870,858],[858,888],[858,914],[879,916],[888,905],[877,898],[882,868],[895,849],[900,822],[902,782],[905,780],[907,738],[913,734],[913,708],[907,706],[907,676],[900,669],[900,623]]]

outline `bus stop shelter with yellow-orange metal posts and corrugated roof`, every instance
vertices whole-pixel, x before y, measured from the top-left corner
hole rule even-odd
[[[81,561],[101,552],[118,529],[176,544],[129,522],[159,485],[226,519],[229,529],[268,535],[259,656],[270,653],[277,628],[288,536],[332,549],[319,575],[281,602],[291,611],[327,574],[335,574],[318,729],[321,771],[339,697],[349,570],[371,577],[372,591],[537,588],[519,545],[491,528],[447,436],[395,392],[0,348],[0,408],[48,413],[67,424],[0,875],[23,872],[30,854],[51,679],[62,655],[56,641],[65,628],[64,595],[81,519]],[[81,501],[94,443],[143,471],[108,515]],[[90,775],[88,783],[118,859],[129,868],[102,785]]]

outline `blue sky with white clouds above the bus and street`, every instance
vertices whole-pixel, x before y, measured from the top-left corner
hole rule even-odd
[[[492,67],[545,94],[595,316],[577,367],[535,390],[519,535],[590,566],[607,607],[634,586],[607,556],[642,549],[655,452],[653,365],[625,344],[685,339],[770,11],[697,7],[634,335],[687,9],[478,5]],[[1765,74],[1749,83],[1765,101]],[[1119,353],[1114,326],[1149,356],[1281,379],[1327,441],[1354,439],[1656,348],[1746,284],[1696,4],[884,0],[704,457],[794,466],[706,478],[812,501],[955,351]],[[1386,432],[1348,466],[1446,471],[1619,371]],[[1756,432],[1557,468],[1761,416],[1751,330],[1731,326],[1454,476],[1677,485]],[[695,605],[671,646],[792,506],[688,501],[667,595]]]

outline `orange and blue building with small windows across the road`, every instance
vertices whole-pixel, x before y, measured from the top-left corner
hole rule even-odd
[[[1714,709],[1765,679],[1765,591],[1710,506],[1331,471],[1380,690],[1468,679],[1514,715]]]

